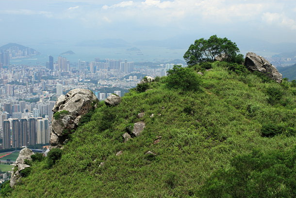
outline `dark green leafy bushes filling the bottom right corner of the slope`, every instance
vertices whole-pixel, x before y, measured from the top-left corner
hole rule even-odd
[[[201,198],[294,198],[295,148],[238,155],[203,184]]]

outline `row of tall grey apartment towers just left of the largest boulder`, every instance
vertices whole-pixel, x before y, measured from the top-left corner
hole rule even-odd
[[[3,120],[2,148],[21,147],[34,144],[47,144],[50,139],[47,118],[17,118]]]

